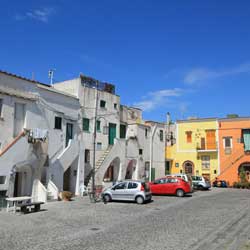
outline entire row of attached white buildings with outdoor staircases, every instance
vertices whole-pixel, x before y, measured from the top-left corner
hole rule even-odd
[[[78,195],[91,187],[93,162],[96,185],[160,177],[164,129],[120,105],[112,84],[80,75],[51,87],[0,71],[0,192],[40,201]]]

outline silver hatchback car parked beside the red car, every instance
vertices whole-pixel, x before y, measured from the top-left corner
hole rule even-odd
[[[102,195],[106,202],[112,200],[135,201],[143,204],[152,199],[149,184],[145,181],[126,180],[106,188]]]

